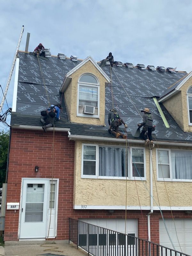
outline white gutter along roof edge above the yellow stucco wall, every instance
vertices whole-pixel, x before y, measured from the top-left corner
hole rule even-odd
[[[126,143],[125,139],[116,139],[116,138],[105,138],[105,137],[93,137],[93,136],[84,136],[84,135],[71,135],[68,132],[69,140],[91,140],[91,141],[110,141],[110,142],[122,142]],[[137,144],[145,144],[145,140],[133,140],[128,139],[128,143],[137,143]],[[185,142],[168,142],[168,141],[154,141],[154,144],[164,145],[164,146],[183,146],[183,147],[192,147],[192,143]]]

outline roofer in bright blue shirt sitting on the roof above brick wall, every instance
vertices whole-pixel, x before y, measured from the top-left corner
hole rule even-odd
[[[43,123],[43,130],[47,132],[48,127],[52,127],[56,120],[60,120],[61,105],[51,105],[47,110],[41,111],[41,123]]]

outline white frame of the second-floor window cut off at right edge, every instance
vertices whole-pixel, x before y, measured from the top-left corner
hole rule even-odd
[[[159,170],[158,170],[158,150],[166,150],[169,152],[169,173],[170,173],[170,178],[159,178]],[[183,149],[168,149],[168,148],[156,148],[156,170],[157,170],[157,180],[158,181],[177,181],[177,182],[192,182],[192,180],[189,179],[173,179],[172,178],[172,159],[171,159],[171,153],[172,151],[190,151],[192,150],[183,150]]]

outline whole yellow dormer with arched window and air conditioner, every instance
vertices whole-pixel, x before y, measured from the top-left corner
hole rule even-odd
[[[66,74],[60,92],[71,123],[105,125],[105,86],[109,82],[91,56]]]

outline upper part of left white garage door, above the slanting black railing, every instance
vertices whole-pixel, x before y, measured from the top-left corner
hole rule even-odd
[[[123,219],[79,219],[84,222],[125,233],[125,220]],[[137,219],[126,220],[126,234],[137,236]]]

